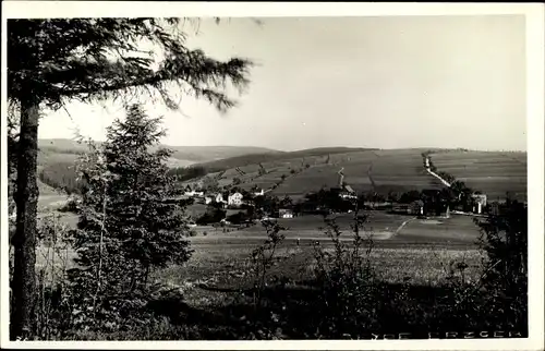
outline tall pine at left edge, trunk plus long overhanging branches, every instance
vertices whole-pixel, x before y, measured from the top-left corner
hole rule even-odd
[[[11,339],[32,335],[43,109],[143,95],[175,108],[175,100],[193,94],[225,111],[234,105],[223,93],[227,84],[242,89],[249,83],[250,61],[218,61],[189,49],[180,25],[180,19],[145,17],[8,21],[8,98],[20,111]]]

